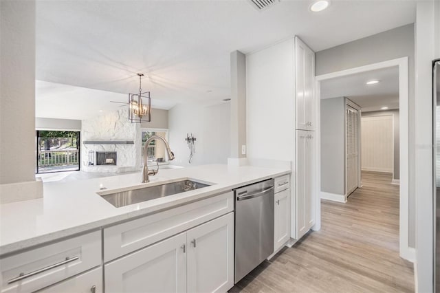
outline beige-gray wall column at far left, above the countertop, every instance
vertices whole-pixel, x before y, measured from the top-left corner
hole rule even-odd
[[[35,1],[0,1],[0,184],[35,181]]]

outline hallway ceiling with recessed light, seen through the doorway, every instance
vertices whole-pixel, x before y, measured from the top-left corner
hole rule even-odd
[[[380,83],[366,85],[369,80],[380,80]],[[321,99],[345,96],[360,105],[362,111],[399,108],[397,66],[322,80],[320,86]]]

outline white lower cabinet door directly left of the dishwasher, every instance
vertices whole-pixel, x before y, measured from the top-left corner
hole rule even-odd
[[[234,286],[234,213],[187,233],[188,292],[227,292]]]

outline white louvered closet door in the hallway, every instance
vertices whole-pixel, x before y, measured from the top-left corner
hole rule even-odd
[[[345,126],[347,195],[358,188],[359,178],[359,111],[347,105]]]

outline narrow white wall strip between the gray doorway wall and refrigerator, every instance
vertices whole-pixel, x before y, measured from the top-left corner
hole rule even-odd
[[[434,292],[433,275],[436,262],[433,254],[435,218],[432,200],[432,60],[440,58],[440,52],[438,52],[440,13],[439,8],[436,9],[435,6],[440,6],[438,1],[417,2],[415,39],[417,107],[415,108],[414,140],[417,158],[415,165],[415,195],[417,197],[416,292]]]

